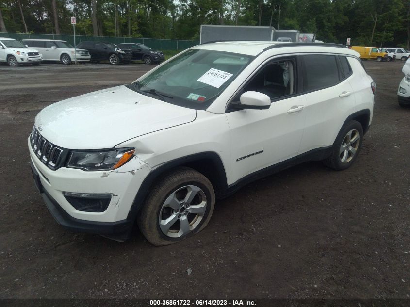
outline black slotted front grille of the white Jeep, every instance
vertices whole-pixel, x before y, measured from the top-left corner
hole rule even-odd
[[[35,125],[30,135],[30,144],[37,158],[52,170],[57,169],[64,162],[66,150],[47,141]]]

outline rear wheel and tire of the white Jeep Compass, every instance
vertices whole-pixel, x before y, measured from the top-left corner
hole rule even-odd
[[[349,168],[359,155],[362,140],[361,124],[356,120],[351,120],[341,129],[333,144],[332,153],[323,162],[337,171]]]

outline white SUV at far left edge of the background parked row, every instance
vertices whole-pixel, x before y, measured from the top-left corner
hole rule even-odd
[[[27,48],[15,39],[0,37],[0,62],[17,67],[21,64],[40,65],[42,60],[43,56],[38,50]]]

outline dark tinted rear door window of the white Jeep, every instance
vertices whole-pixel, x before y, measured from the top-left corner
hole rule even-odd
[[[329,87],[340,81],[335,55],[303,55],[302,63],[305,92]]]

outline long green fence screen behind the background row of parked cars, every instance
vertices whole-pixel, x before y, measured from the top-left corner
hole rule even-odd
[[[26,34],[26,33],[1,33],[0,37],[22,39],[58,39],[64,40],[74,45],[73,35],[56,35],[56,34]],[[113,44],[120,43],[142,43],[149,48],[157,50],[185,50],[192,46],[198,45],[199,41],[184,41],[176,39],[156,39],[156,38],[133,38],[133,37],[111,37],[111,36],[84,36],[76,35],[76,43],[83,41],[104,41]]]

